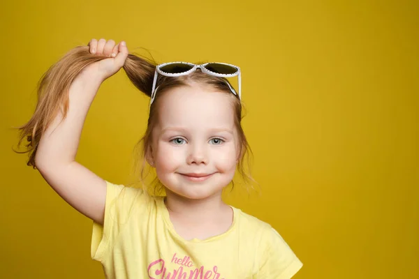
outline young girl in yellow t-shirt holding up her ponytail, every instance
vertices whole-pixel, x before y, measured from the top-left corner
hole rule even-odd
[[[122,67],[151,97],[143,155],[165,196],[110,183],[75,161],[98,88]],[[238,92],[226,80],[235,75]],[[93,39],[45,73],[20,142],[29,141],[28,165],[94,220],[91,257],[107,278],[288,279],[301,268],[275,229],[221,199],[249,148],[240,94],[237,66],[156,66],[128,54],[124,41]]]

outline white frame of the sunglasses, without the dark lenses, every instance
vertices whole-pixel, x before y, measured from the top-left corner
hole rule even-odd
[[[182,73],[166,73],[163,70],[161,70],[162,67],[170,65],[170,64],[187,64],[189,66],[192,66],[192,68],[190,70],[186,70],[185,72]],[[212,70],[208,70],[207,68],[205,68],[205,66],[207,66],[208,64],[221,64],[221,65],[226,65],[226,66],[230,66],[233,68],[236,68],[237,71],[233,74],[220,74],[220,73],[215,73]],[[156,88],[156,82],[157,82],[157,76],[160,75],[164,75],[166,77],[179,77],[181,75],[189,75],[190,73],[194,72],[196,69],[200,69],[201,71],[203,71],[203,73],[206,73],[208,75],[214,75],[215,77],[235,77],[236,75],[238,75],[238,84],[239,84],[239,94],[238,97],[240,100],[242,100],[242,75],[241,75],[241,71],[240,71],[240,67],[232,65],[232,64],[228,64],[228,63],[221,63],[221,62],[210,62],[210,63],[204,63],[204,64],[200,64],[200,65],[196,65],[194,63],[189,63],[189,62],[168,62],[168,63],[163,63],[163,64],[159,64],[156,66],[156,71],[154,72],[154,80],[153,80],[153,87],[152,87],[152,97],[150,99],[150,106],[152,105],[154,98],[156,98],[156,91],[157,88],[159,88],[159,86],[157,86]],[[230,83],[227,82],[228,87],[230,87],[230,91],[237,96],[236,91],[233,89],[232,86],[230,86]]]

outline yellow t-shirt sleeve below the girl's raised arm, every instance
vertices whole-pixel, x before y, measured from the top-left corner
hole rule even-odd
[[[93,222],[91,233],[91,259],[102,262],[115,239],[128,222],[138,188],[129,188],[106,181],[106,202],[103,225]]]

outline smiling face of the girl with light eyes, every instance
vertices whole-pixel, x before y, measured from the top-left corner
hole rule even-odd
[[[193,85],[170,89],[159,99],[152,160],[171,192],[205,199],[233,180],[239,146],[231,97]]]

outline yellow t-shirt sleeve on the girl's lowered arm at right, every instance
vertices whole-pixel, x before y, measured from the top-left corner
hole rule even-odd
[[[302,262],[272,227],[264,237],[265,252],[260,264],[258,279],[290,279],[302,267]]]

